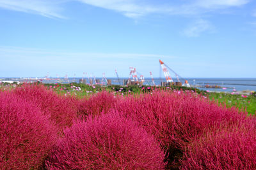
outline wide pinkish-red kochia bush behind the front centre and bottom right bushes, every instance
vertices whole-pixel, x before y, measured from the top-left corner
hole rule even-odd
[[[193,92],[155,90],[138,96],[127,96],[115,106],[126,117],[140,122],[147,132],[164,144],[170,164],[182,157],[189,141],[199,138],[204,129],[223,122],[244,120],[245,114],[235,108],[223,108]]]

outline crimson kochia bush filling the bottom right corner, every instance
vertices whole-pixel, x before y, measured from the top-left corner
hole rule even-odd
[[[255,128],[237,125],[211,129],[188,145],[182,169],[256,169],[255,157]]]

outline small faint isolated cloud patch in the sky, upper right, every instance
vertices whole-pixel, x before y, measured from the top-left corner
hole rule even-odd
[[[197,20],[182,32],[188,37],[198,37],[202,32],[212,31],[213,26],[207,20]]]

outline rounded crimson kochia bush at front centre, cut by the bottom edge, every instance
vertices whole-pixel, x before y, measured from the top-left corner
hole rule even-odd
[[[135,122],[109,113],[64,131],[47,160],[47,169],[163,169],[156,139]]]

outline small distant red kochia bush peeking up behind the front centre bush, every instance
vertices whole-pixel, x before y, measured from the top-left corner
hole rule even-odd
[[[118,103],[116,97],[118,96],[107,91],[102,91],[87,98],[83,98],[79,104],[79,113],[85,116],[99,115],[102,112],[106,113]]]

